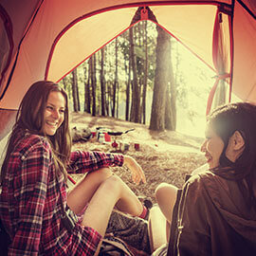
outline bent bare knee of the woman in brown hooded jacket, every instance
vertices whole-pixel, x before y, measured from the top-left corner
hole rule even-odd
[[[176,196],[177,196],[177,188],[174,187],[173,185],[170,185],[167,183],[161,183],[155,189],[155,198],[156,198],[157,204],[167,220],[166,233],[168,236],[170,234],[170,227],[172,223]],[[168,240],[169,240],[169,237],[167,237],[167,241]]]

